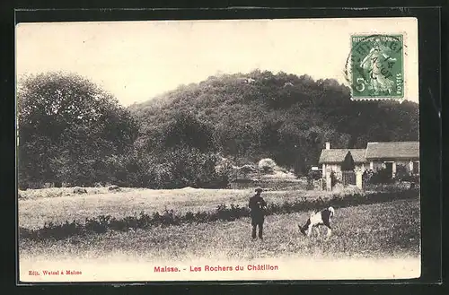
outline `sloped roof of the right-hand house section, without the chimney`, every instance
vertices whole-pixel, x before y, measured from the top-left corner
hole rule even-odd
[[[419,159],[419,142],[368,143],[366,159]]]

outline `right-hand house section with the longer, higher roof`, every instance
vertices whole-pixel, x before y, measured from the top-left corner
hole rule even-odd
[[[393,178],[399,165],[410,175],[419,175],[419,142],[368,143],[365,158],[369,169],[386,168]]]

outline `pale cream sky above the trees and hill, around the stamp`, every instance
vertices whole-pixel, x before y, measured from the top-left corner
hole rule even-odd
[[[309,74],[348,84],[351,34],[403,33],[406,97],[418,102],[413,18],[20,23],[16,74],[81,74],[128,106],[214,74]]]

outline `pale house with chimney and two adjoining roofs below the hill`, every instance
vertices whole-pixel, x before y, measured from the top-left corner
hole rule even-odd
[[[377,171],[389,169],[392,178],[397,168],[402,165],[410,175],[419,174],[419,143],[418,142],[384,142],[367,143],[366,149],[330,149],[330,143],[321,151],[319,164],[322,165],[322,178],[326,178],[328,169],[341,178],[345,161],[354,161],[354,169]]]

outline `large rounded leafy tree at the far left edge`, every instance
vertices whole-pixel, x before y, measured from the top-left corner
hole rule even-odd
[[[17,89],[20,182],[88,185],[110,178],[110,157],[137,135],[128,110],[77,74],[22,77]]]

